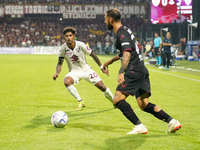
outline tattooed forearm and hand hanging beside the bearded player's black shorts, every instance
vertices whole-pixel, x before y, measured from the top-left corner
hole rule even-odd
[[[122,56],[122,62],[121,62],[121,68],[119,70],[118,75],[118,84],[122,85],[124,83],[124,72],[126,71],[126,68],[128,67],[129,61],[131,58],[131,53],[128,51],[125,51]]]

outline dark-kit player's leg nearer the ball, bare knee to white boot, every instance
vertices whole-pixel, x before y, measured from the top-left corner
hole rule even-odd
[[[120,91],[115,92],[113,103],[121,110],[124,116],[135,125],[135,128],[127,134],[146,134],[148,133],[147,128],[140,122],[133,109],[125,100],[128,95],[121,93]]]

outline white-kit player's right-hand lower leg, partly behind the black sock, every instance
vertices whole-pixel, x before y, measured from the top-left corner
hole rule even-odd
[[[113,94],[112,92],[110,91],[110,89],[108,87],[106,87],[102,81],[99,81],[98,83],[95,84],[95,86],[101,90],[105,97],[111,102],[113,103]],[[114,106],[115,107],[115,106]]]

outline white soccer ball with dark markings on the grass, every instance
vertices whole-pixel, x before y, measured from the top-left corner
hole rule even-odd
[[[63,111],[57,111],[51,116],[51,123],[56,128],[63,128],[68,123],[68,116]]]

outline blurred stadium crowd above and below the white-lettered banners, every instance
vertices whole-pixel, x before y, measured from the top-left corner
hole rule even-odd
[[[0,0],[1,4],[135,4],[148,0]],[[137,37],[143,18],[122,19]],[[97,53],[111,51],[114,43],[113,32],[108,31],[104,16],[96,19],[60,19],[56,15],[24,15],[22,18],[0,18],[0,47],[60,46],[65,40],[62,30],[73,26],[77,30],[77,40],[88,43]]]

